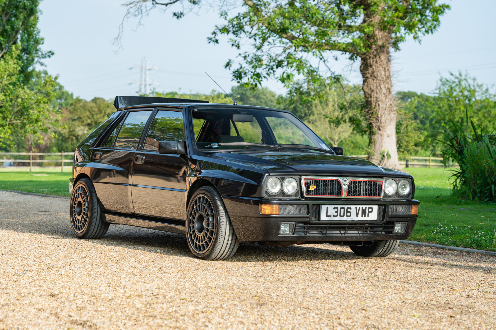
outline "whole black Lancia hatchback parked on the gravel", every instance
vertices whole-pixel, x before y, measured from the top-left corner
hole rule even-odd
[[[343,156],[291,112],[117,96],[76,148],[70,224],[100,238],[121,224],[186,234],[202,259],[239,242],[331,243],[389,255],[415,226],[412,176]]]

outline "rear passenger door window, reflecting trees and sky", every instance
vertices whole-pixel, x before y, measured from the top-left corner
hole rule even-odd
[[[129,112],[117,135],[115,147],[136,149],[152,110]]]

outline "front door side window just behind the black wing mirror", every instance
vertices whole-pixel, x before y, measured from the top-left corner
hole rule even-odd
[[[159,110],[150,125],[143,150],[158,151],[158,142],[184,140],[183,112]]]

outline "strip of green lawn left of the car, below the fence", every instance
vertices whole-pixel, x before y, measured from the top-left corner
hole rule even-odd
[[[71,176],[72,172],[0,172],[0,189],[69,196]]]

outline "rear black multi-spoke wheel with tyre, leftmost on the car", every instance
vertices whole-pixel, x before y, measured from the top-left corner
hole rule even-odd
[[[70,226],[79,238],[102,238],[109,229],[95,187],[88,178],[79,180],[70,197]]]

